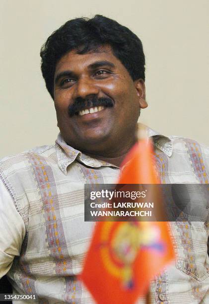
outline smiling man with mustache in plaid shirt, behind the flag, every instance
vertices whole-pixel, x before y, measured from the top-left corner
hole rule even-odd
[[[36,295],[37,303],[93,303],[75,277],[93,228],[84,222],[83,188],[114,183],[137,141],[140,109],[147,107],[142,44],[128,28],[96,15],[55,31],[41,58],[61,133],[55,146],[0,163],[0,276],[7,273],[14,294]],[[163,183],[208,183],[209,150],[148,132]],[[209,227],[171,228],[176,265],[153,280],[151,300],[207,303]]]

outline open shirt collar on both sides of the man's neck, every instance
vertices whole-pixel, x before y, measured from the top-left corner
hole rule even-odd
[[[163,135],[160,135],[158,132],[147,128],[147,135],[148,137],[151,137],[153,140],[153,144],[156,148],[158,148],[160,151],[167,154],[169,157],[172,155],[173,145],[171,140]],[[76,159],[77,161],[85,164],[86,166],[90,167],[101,167],[101,166],[109,166],[109,167],[115,167],[117,166],[110,164],[106,161],[99,160],[96,158],[92,158],[84,153],[81,153],[80,151],[70,147],[63,139],[61,133],[59,133],[58,138],[55,142],[55,149],[57,152],[58,157],[58,165],[60,169],[63,171],[63,173],[67,174],[67,167]]]

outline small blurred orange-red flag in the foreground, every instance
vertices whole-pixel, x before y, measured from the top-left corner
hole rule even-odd
[[[122,164],[119,184],[158,184],[150,142]],[[99,304],[132,304],[174,258],[166,222],[98,222],[80,279]]]

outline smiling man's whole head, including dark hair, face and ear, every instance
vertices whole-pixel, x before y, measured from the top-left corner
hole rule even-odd
[[[48,38],[41,56],[65,142],[120,164],[136,142],[140,108],[147,106],[139,38],[103,16],[78,18]]]

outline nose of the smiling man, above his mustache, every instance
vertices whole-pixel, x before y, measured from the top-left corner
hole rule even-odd
[[[85,77],[77,80],[77,83],[75,85],[74,98],[81,97],[85,99],[86,97],[89,97],[91,95],[98,95],[98,94],[99,94],[99,88],[94,83],[94,79]]]

